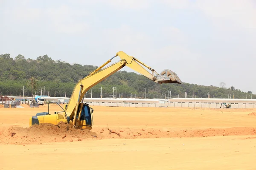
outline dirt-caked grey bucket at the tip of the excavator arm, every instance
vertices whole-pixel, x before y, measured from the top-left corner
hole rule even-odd
[[[183,84],[177,74],[169,69],[165,69],[157,76],[158,82],[161,83],[178,83]]]

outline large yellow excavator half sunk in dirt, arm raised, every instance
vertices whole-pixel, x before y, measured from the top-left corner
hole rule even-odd
[[[105,65],[110,63],[111,60],[117,56],[119,56],[121,59],[119,62],[113,63],[112,65],[104,68]],[[145,65],[140,60],[125,54],[123,51],[119,51],[114,57],[109,59],[102,66],[90,72],[87,76],[84,76],[82,79],[79,80],[79,82],[73,89],[73,93],[70,97],[69,103],[65,106],[65,108],[62,108],[59,105],[63,111],[49,114],[48,104],[48,112],[37,113],[35,116],[30,117],[29,126],[42,123],[57,125],[59,122],[62,121],[72,124],[74,128],[91,130],[93,126],[93,108],[90,108],[87,103],[83,102],[84,94],[94,85],[116,73],[116,71],[119,71],[125,66],[128,66],[129,68],[137,71],[138,73],[158,84],[182,84],[180,78],[177,76],[177,74],[175,74],[175,72],[169,69],[165,69],[160,74],[158,74],[154,69],[152,69],[148,65]],[[150,70],[152,73],[148,72],[143,66],[145,68],[148,68],[148,70]]]

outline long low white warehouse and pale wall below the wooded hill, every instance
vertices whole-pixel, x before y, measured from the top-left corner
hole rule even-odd
[[[11,97],[11,96],[9,96]],[[21,100],[22,97],[15,97]],[[68,103],[69,98],[43,96],[47,102]],[[25,98],[25,97],[24,97]],[[31,99],[31,97],[26,97]],[[28,102],[28,101],[26,101]],[[212,98],[173,98],[173,99],[131,99],[131,98],[84,98],[92,106],[111,107],[172,107],[172,108],[220,108],[221,103],[231,104],[231,108],[256,108],[256,99],[212,99]],[[222,106],[223,107],[223,106]],[[225,106],[224,106],[225,107]]]

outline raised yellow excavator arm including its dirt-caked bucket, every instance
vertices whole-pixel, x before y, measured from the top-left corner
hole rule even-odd
[[[112,65],[109,65],[108,67],[104,68],[105,65],[110,63],[111,60],[117,56],[119,56],[121,59],[119,62],[113,63]],[[75,125],[76,123],[78,108],[81,101],[84,98],[84,94],[94,85],[98,84],[99,82],[111,76],[112,74],[116,73],[116,71],[119,71],[121,68],[125,66],[128,66],[134,71],[137,71],[138,73],[142,74],[148,79],[151,79],[152,81],[159,84],[182,83],[179,77],[177,77],[177,75],[174,72],[166,69],[162,71],[161,74],[158,74],[154,69],[152,69],[148,65],[145,65],[138,59],[125,54],[123,51],[119,51],[118,53],[116,53],[114,57],[109,59],[96,70],[90,72],[90,74],[88,74],[83,79],[79,80],[79,82],[76,84],[73,93],[70,97],[70,101],[66,107],[66,114],[67,116],[69,116],[70,120],[72,120],[73,125]],[[145,68],[143,68],[143,66],[145,68],[148,68],[148,70],[150,70],[152,73],[149,73]]]

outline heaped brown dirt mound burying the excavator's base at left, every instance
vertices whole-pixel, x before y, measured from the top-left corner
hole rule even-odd
[[[3,144],[40,144],[45,142],[81,141],[95,138],[97,134],[90,130],[75,129],[67,123],[58,125],[40,124],[28,128],[12,126],[0,134]]]

